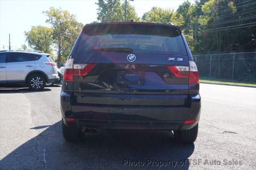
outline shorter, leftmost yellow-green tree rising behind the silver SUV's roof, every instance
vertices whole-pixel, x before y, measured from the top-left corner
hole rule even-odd
[[[52,52],[53,29],[44,26],[33,26],[30,31],[25,31],[26,41],[28,45],[37,51],[45,53]],[[22,49],[27,49],[26,45],[22,45]]]

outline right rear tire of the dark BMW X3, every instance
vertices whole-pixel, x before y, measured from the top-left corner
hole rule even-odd
[[[198,134],[198,123],[192,129],[185,131],[173,131],[174,140],[178,143],[194,143]]]

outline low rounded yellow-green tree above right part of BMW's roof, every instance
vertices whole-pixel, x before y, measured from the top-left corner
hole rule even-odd
[[[154,6],[142,16],[143,22],[168,23],[171,21],[173,10],[164,10]]]

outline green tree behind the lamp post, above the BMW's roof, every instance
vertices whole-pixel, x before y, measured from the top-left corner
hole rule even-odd
[[[98,0],[96,3],[98,5],[97,9],[97,19],[101,22],[118,22],[124,21],[124,3],[121,4],[120,0]],[[140,21],[140,18],[135,12],[134,6],[131,6],[127,2],[126,6],[126,20],[130,21]]]

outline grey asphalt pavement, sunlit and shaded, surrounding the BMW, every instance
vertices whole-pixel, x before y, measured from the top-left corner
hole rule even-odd
[[[60,91],[0,90],[1,170],[256,168],[256,88],[200,84],[199,132],[190,145],[176,144],[172,132],[146,131],[64,141]]]

